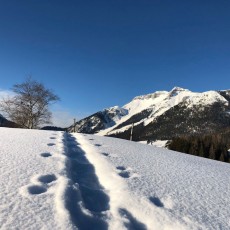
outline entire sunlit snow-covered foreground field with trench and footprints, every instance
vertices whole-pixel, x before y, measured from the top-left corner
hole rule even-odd
[[[140,143],[0,128],[0,229],[230,229],[229,175]]]

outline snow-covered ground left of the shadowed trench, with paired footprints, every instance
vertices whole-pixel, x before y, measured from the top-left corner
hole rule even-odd
[[[62,138],[0,128],[0,229],[70,229]]]

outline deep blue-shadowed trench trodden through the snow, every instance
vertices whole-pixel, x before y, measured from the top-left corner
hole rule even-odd
[[[109,197],[100,185],[92,164],[76,139],[65,134],[67,176],[71,186],[66,190],[65,204],[74,225],[79,229],[108,229],[105,221]]]

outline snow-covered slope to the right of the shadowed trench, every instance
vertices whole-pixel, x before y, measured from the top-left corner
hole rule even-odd
[[[229,164],[116,138],[74,136],[108,191],[110,229],[133,223],[151,230],[229,229]]]

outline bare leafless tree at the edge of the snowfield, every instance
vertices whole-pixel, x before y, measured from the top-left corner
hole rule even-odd
[[[57,95],[31,78],[15,84],[12,90],[15,95],[0,102],[0,109],[11,121],[28,129],[51,123],[49,105],[59,100]]]

